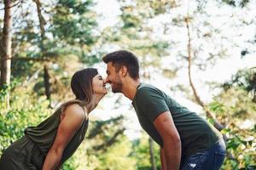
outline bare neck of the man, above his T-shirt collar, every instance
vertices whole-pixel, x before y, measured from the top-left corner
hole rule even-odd
[[[140,84],[140,79],[133,80],[131,78],[126,79],[125,82],[123,82],[123,94],[126,98],[133,100],[135,97],[135,94],[137,93],[137,87]]]

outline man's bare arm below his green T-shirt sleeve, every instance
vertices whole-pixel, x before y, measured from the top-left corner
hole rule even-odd
[[[153,123],[163,139],[164,154],[162,155],[166,157],[166,169],[178,170],[181,160],[181,141],[170,111],[161,113]]]

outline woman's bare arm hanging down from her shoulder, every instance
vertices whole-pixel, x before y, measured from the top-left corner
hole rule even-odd
[[[43,170],[54,170],[58,167],[63,150],[65,150],[67,144],[84,121],[84,110],[79,105],[68,106],[64,114],[58,127],[54,144],[49,149],[44,160]]]

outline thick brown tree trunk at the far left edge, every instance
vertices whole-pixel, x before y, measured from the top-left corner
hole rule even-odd
[[[12,26],[12,17],[11,17],[11,0],[4,0],[4,19],[3,19],[3,37],[0,42],[1,46],[1,81],[0,87],[3,88],[3,85],[9,86],[10,83],[10,67],[11,67],[11,57],[12,57],[12,48],[11,48],[11,26]],[[7,107],[9,108],[9,92],[6,96]]]

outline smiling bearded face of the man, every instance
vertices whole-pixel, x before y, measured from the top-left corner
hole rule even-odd
[[[105,82],[111,84],[113,93],[122,93],[123,83],[120,79],[119,71],[116,71],[112,62],[107,64],[107,75]]]

